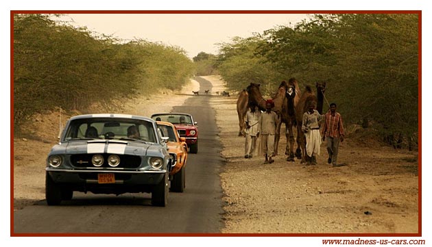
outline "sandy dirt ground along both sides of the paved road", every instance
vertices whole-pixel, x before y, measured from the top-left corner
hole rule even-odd
[[[212,81],[213,94],[226,90],[219,77],[204,78]],[[191,81],[181,92],[133,99],[121,112],[169,112],[198,88]],[[226,158],[220,174],[226,211],[222,233],[418,233],[417,152],[358,146],[348,136],[339,151],[339,161],[348,164],[344,167],[326,164],[324,143],[317,166],[287,162],[285,155],[273,164],[263,164],[263,157],[244,159],[236,101],[233,93],[210,101]],[[45,156],[56,143],[58,125],[56,112],[37,117],[28,129],[38,140],[14,140],[15,210],[45,198]],[[281,138],[279,153],[285,143]]]

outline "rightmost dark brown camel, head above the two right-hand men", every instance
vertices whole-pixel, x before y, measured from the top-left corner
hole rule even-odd
[[[317,111],[322,114],[322,104],[324,102],[324,92],[326,90],[325,82],[317,82],[316,83],[317,94],[313,92],[310,86],[306,86],[306,90],[302,93],[300,101],[296,106],[296,120],[297,120],[297,150],[296,157],[298,159],[302,159],[300,163],[306,162],[306,141],[304,138],[304,133],[302,131],[302,121],[303,114],[307,112],[307,103],[309,101],[317,102]],[[301,150],[300,150],[301,147]]]

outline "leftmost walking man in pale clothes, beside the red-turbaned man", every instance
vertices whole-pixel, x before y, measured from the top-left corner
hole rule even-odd
[[[252,158],[252,153],[256,148],[256,139],[259,137],[259,120],[261,112],[256,110],[256,105],[250,103],[250,109],[245,116],[245,159]]]

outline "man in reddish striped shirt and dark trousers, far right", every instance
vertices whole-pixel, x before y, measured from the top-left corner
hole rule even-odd
[[[330,104],[330,111],[326,113],[326,121],[322,132],[322,140],[327,138],[328,164],[341,166],[337,164],[337,150],[339,141],[344,142],[344,125],[342,124],[341,114],[336,112],[336,104]]]

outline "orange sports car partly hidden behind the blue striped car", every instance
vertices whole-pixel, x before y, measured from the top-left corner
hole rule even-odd
[[[156,121],[160,132],[164,137],[168,137],[168,153],[173,159],[169,178],[171,180],[171,192],[183,192],[186,187],[185,166],[187,161],[186,138],[180,138],[176,127],[171,122]]]

